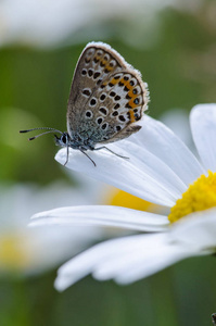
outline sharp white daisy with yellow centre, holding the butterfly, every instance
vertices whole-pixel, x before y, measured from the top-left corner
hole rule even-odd
[[[142,129],[110,145],[123,160],[103,150],[79,151],[68,168],[106,181],[141,199],[169,208],[168,215],[119,206],[63,208],[36,214],[33,225],[115,226],[145,234],[112,239],[88,249],[60,267],[55,288],[64,290],[88,274],[129,284],[179,260],[216,250],[216,104],[192,109],[190,125],[201,162],[164,124],[145,116]],[[66,150],[55,159],[65,163]],[[186,216],[186,217],[185,217]],[[182,218],[181,218],[182,217]]]

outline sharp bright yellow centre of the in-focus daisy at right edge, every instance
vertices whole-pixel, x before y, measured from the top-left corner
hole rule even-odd
[[[216,173],[208,171],[208,176],[201,175],[193,185],[178,199],[171,208],[168,220],[170,223],[198,211],[216,206]]]

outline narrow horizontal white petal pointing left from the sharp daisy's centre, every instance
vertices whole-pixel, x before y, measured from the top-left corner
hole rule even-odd
[[[118,206],[71,206],[41,212],[30,226],[61,225],[101,225],[144,231],[163,231],[167,229],[166,216]]]

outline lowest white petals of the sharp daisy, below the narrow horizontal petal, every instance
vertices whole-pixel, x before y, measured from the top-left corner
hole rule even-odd
[[[60,267],[60,291],[92,273],[100,280],[114,278],[128,284],[154,274],[196,252],[168,242],[167,234],[138,235],[97,244]]]

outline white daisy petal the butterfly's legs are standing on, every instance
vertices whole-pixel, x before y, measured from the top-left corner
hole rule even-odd
[[[97,163],[97,166],[93,166],[81,152],[71,150],[66,167],[88,174],[147,201],[167,206],[174,205],[176,199],[186,190],[178,176],[142,147],[127,140],[119,142],[122,148],[116,145],[109,145],[109,148],[118,154],[129,156],[128,160],[104,149],[88,153]],[[64,164],[66,149],[60,150],[55,160]]]

